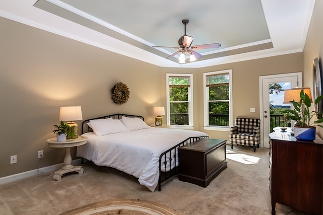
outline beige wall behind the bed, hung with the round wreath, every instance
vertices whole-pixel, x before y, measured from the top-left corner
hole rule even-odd
[[[81,106],[83,119],[129,113],[153,123],[159,67],[7,19],[0,26],[0,177],[63,162],[64,150],[46,148],[36,166],[37,151],[59,123],[60,106]],[[123,105],[111,99],[118,82],[131,92]]]

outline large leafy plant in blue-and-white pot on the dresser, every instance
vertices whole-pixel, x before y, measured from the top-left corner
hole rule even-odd
[[[323,113],[309,110],[312,101],[306,93],[304,94],[303,90],[300,91],[299,96],[299,102],[295,102],[294,100],[290,101],[293,104],[294,110],[288,109],[283,111],[283,113],[287,113],[290,119],[295,120],[294,136],[297,139],[312,141],[315,139],[316,133],[316,127],[314,125],[323,127],[318,124],[323,122],[323,118],[317,119],[316,121],[312,121],[312,118],[315,114],[322,115]],[[323,96],[317,97],[315,99],[315,104],[318,104],[322,99]]]

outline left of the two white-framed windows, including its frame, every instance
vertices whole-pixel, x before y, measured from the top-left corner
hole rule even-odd
[[[167,122],[174,127],[193,126],[193,75],[166,74]]]

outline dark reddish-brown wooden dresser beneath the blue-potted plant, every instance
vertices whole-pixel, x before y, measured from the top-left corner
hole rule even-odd
[[[270,133],[272,214],[276,203],[323,214],[323,140],[297,140],[290,128]]]

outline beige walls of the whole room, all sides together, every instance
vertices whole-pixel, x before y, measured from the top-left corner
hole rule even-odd
[[[45,148],[60,106],[82,106],[84,119],[119,112],[143,115],[148,124],[153,123],[152,107],[166,106],[166,73],[193,74],[196,130],[204,131],[202,85],[208,71],[232,69],[234,117],[259,117],[259,76],[304,70],[303,86],[312,87],[311,63],[322,56],[318,12],[323,3],[315,4],[304,54],[197,69],[154,66],[1,18],[0,177],[63,162],[64,150]],[[118,82],[127,84],[131,92],[123,105],[111,100],[110,91]],[[250,113],[250,107],[256,112]],[[205,132],[228,139],[228,132]],[[44,148],[44,159],[37,166],[37,151]],[[18,156],[17,164],[10,164],[11,155]]]

